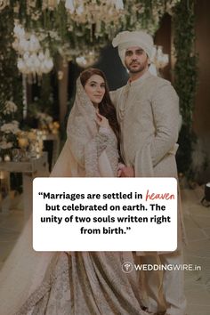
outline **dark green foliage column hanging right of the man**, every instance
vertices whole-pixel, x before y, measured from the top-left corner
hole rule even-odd
[[[193,145],[192,115],[198,84],[198,56],[195,54],[195,0],[182,0],[174,7],[174,86],[180,97],[182,130],[177,155],[179,172],[192,179]]]

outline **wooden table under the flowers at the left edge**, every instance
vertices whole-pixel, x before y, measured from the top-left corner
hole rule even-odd
[[[31,158],[27,162],[0,162],[0,170],[22,174],[24,218],[28,220],[32,213],[33,179],[49,176],[47,153],[43,152],[40,158]]]

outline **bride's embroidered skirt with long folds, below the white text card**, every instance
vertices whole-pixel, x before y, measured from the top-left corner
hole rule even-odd
[[[53,257],[40,287],[17,315],[144,315],[131,252],[61,253]]]

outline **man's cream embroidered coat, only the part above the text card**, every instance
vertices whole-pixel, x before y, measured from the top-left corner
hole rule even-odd
[[[121,154],[135,176],[177,176],[178,96],[172,85],[146,72],[112,93],[121,130]]]

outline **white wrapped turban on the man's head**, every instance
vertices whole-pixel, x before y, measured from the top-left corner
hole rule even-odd
[[[153,39],[148,33],[143,30],[136,30],[133,32],[125,31],[117,34],[112,41],[113,47],[118,46],[118,53],[121,61],[125,66],[125,51],[129,47],[141,47],[148,57],[151,57]]]

